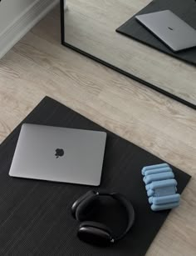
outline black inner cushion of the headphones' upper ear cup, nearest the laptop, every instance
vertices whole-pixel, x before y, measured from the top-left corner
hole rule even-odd
[[[93,212],[98,201],[99,196],[97,194],[91,194],[91,196],[86,197],[76,208],[76,220],[86,220]]]

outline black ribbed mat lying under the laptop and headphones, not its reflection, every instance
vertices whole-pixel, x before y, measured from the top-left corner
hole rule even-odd
[[[105,131],[100,188],[9,177],[22,123]],[[0,146],[0,255],[144,255],[169,211],[150,210],[140,170],[163,161],[48,97],[22,123]],[[177,168],[174,173],[182,193],[190,176]],[[123,193],[135,207],[134,227],[109,248],[93,247],[76,237],[79,223],[71,216],[71,204],[89,189]],[[106,203],[92,218],[114,225],[118,233],[125,228],[125,213],[119,205]]]

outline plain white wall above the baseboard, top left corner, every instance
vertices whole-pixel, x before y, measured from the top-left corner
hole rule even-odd
[[[0,34],[36,2],[37,0],[2,0],[0,2]]]

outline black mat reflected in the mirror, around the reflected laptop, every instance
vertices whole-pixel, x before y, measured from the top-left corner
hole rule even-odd
[[[135,15],[154,13],[164,10],[172,11],[179,16],[179,18],[182,18],[186,23],[196,29],[195,0],[154,0]],[[165,46],[164,43],[159,41],[158,38],[156,38],[152,33],[138,23],[135,16],[121,25],[120,28],[117,28],[116,31],[130,38],[134,38],[141,43],[145,43],[150,47],[156,48],[161,52],[167,53],[175,58],[179,58],[187,63],[196,65],[196,48],[190,48],[179,53],[172,52],[167,46]]]

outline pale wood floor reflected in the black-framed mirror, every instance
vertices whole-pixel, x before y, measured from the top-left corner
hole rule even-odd
[[[150,2],[67,1],[66,43],[195,105],[195,66],[115,32]]]

